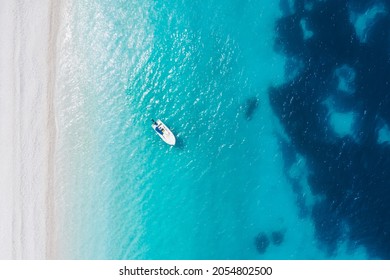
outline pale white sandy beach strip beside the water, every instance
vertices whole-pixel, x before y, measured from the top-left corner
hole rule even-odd
[[[0,259],[51,257],[59,6],[0,0]]]

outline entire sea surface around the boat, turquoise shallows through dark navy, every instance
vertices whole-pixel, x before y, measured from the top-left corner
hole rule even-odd
[[[389,259],[389,12],[379,0],[71,1],[59,256]]]

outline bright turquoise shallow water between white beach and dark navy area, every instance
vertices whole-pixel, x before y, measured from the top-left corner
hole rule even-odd
[[[68,13],[56,101],[61,257],[326,256],[291,178],[308,211],[320,198],[303,157],[286,170],[290,140],[269,105],[285,77],[277,1],[89,0]],[[272,232],[283,242],[259,252],[256,236]]]

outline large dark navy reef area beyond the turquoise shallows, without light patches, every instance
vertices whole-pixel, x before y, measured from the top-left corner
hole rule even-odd
[[[390,124],[390,1],[380,3],[387,12],[370,26],[365,43],[350,22],[351,7],[370,7],[363,0],[296,0],[294,9],[282,1],[285,16],[275,28],[275,50],[302,65],[294,78],[270,90],[270,102],[291,145],[306,158],[313,193],[323,198],[311,215],[330,256],[347,241],[365,246],[371,258],[390,259],[390,145],[377,143],[378,122]],[[314,34],[307,40],[302,19]],[[357,115],[355,139],[329,132],[323,105],[337,90],[332,77],[342,65],[355,71],[353,94],[338,103]],[[282,149],[291,164],[289,147]],[[269,242],[259,234],[258,251],[264,253]]]

